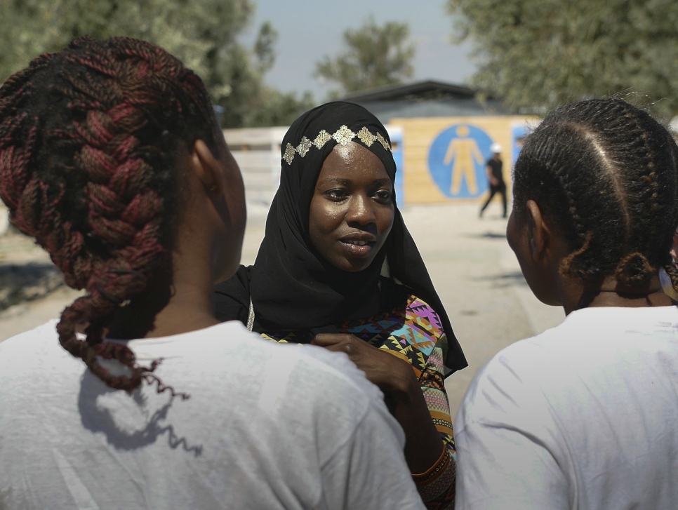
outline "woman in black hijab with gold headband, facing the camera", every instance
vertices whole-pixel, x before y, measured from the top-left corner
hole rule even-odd
[[[395,205],[388,134],[363,107],[331,102],[293,123],[282,152],[258,256],[215,288],[217,317],[347,353],[403,427],[424,502],[451,507],[444,373],[467,363]]]

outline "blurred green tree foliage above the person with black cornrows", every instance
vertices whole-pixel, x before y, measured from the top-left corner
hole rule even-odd
[[[622,95],[678,113],[675,0],[448,0],[474,85],[515,110]]]

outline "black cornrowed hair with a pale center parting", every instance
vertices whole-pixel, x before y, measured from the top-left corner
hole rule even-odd
[[[678,290],[678,147],[646,112],[617,99],[561,107],[527,137],[514,207],[536,201],[572,252],[561,272],[583,281],[649,282],[660,267]]]

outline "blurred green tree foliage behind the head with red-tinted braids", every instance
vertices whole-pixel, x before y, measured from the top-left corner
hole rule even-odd
[[[213,102],[225,107],[225,127],[261,125],[271,116],[288,123],[310,101],[265,86],[275,60],[274,28],[264,23],[253,48],[237,40],[253,10],[251,0],[0,0],[0,81],[74,37],[131,36],[165,48],[197,72]],[[279,104],[295,114],[260,112]]]

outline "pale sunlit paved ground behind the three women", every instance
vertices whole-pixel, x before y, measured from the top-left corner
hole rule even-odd
[[[469,361],[468,368],[446,383],[453,413],[473,375],[491,356],[564,317],[561,309],[538,302],[527,287],[507,246],[499,204],[492,203],[482,220],[478,208],[475,203],[410,206],[403,213]],[[260,219],[248,227],[244,264],[253,262],[263,233]],[[27,239],[0,237],[0,264],[46,260]],[[0,312],[0,341],[58,316],[77,295],[60,288]]]

